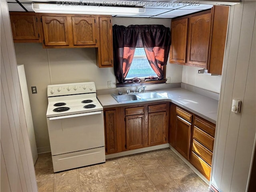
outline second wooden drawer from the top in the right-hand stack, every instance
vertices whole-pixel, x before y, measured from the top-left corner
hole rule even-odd
[[[213,151],[214,138],[208,135],[206,132],[200,130],[194,126],[193,138],[200,142],[203,146],[208,148],[210,151]]]

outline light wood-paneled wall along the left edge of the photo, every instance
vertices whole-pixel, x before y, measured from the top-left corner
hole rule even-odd
[[[0,10],[1,191],[37,192],[6,0]]]

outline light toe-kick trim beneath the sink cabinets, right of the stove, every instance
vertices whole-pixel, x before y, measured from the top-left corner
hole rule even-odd
[[[132,155],[132,154],[136,154],[136,153],[142,153],[142,152],[147,152],[147,151],[152,151],[152,150],[157,150],[157,149],[164,149],[164,148],[168,148],[168,147],[169,147],[169,144],[166,143],[166,144],[162,144],[162,145],[134,149],[134,150],[129,150],[129,151],[106,155],[106,159],[122,157],[122,156],[126,156],[126,155]]]

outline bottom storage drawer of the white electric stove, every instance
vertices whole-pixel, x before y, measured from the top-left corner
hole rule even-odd
[[[106,162],[105,147],[52,156],[54,172]]]

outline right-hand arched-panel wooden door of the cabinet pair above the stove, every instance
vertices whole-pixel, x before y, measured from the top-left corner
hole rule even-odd
[[[74,45],[95,45],[95,17],[72,17]]]

